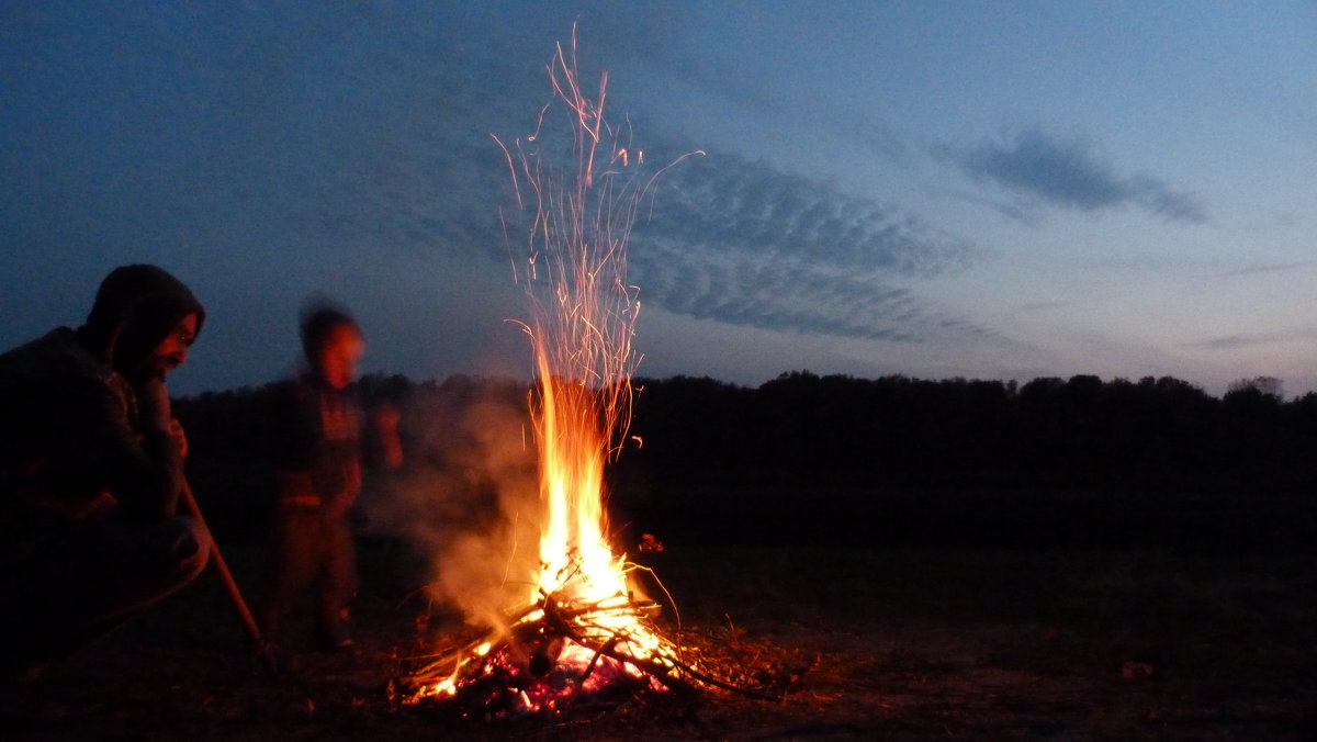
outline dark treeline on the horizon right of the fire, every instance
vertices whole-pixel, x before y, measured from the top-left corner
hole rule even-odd
[[[861,380],[789,373],[757,389],[644,381],[619,465],[693,484],[1279,492],[1317,461],[1317,394],[1241,382],[1216,398],[1163,377]]]

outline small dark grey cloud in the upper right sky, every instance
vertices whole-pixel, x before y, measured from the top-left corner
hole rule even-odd
[[[1119,175],[1083,142],[1058,141],[1039,129],[969,149],[942,148],[938,154],[971,178],[996,183],[1025,202],[1081,211],[1134,206],[1167,221],[1208,221],[1192,194],[1148,175]]]

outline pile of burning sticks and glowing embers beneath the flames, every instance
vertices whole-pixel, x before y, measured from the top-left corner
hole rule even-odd
[[[780,701],[805,671],[780,652],[749,651],[735,630],[698,648],[673,642],[655,626],[656,609],[622,596],[581,604],[544,594],[504,638],[457,641],[395,679],[391,696],[466,718],[558,717],[656,696],[693,702],[718,691]]]

